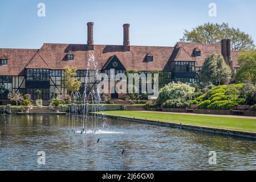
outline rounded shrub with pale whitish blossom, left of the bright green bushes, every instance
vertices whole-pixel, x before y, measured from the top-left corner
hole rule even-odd
[[[161,105],[167,100],[182,99],[189,100],[194,93],[194,88],[181,82],[171,82],[159,91],[157,103]]]

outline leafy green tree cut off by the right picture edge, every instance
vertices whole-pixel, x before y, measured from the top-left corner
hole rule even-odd
[[[238,64],[240,68],[237,72],[237,81],[251,81],[256,84],[256,51],[241,53]]]

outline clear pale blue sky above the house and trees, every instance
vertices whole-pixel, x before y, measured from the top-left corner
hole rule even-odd
[[[46,17],[37,15],[41,2]],[[217,17],[208,16],[212,2]],[[95,23],[95,44],[123,44],[124,23],[131,24],[131,45],[137,46],[174,46],[184,29],[206,22],[227,22],[256,40],[255,0],[1,0],[0,7],[1,48],[86,44],[87,22]]]

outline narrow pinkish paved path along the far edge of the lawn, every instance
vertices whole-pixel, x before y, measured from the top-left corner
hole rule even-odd
[[[173,112],[148,111],[148,110],[144,110],[144,111],[138,110],[138,112],[165,113],[165,114],[184,114],[184,115],[204,115],[204,116],[213,116],[213,117],[256,119],[256,117],[253,117],[253,116],[244,116],[244,115],[217,115],[217,114],[173,113]]]

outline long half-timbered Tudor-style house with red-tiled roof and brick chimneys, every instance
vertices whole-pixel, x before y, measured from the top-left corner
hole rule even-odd
[[[87,28],[87,44],[44,43],[40,49],[0,48],[0,84],[6,89],[0,100],[7,100],[9,92],[30,93],[32,100],[36,100],[38,89],[42,90],[43,100],[50,100],[57,92],[65,93],[62,81],[66,66],[78,68],[77,77],[83,83],[83,90],[87,60],[92,54],[101,72],[160,71],[169,74],[169,81],[199,82],[198,73],[204,60],[213,52],[222,54],[234,71],[239,68],[239,51],[230,50],[229,39],[221,44],[178,42],[175,47],[130,46],[129,24],[124,24],[123,45],[95,45],[94,23],[87,23]],[[95,71],[90,70],[90,88],[95,89]]]

